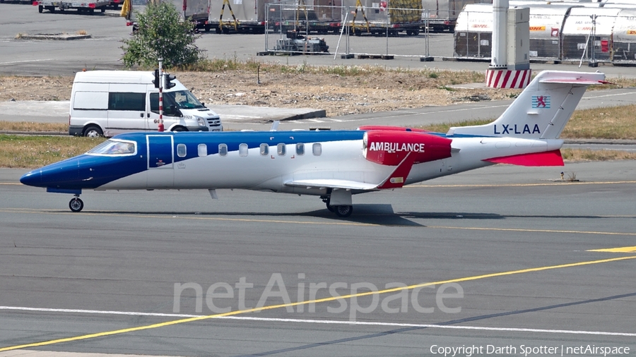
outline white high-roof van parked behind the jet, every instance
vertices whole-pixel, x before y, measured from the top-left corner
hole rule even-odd
[[[151,71],[87,71],[75,75],[69,134],[112,136],[157,131],[159,89]],[[165,131],[223,131],[218,114],[201,104],[178,80],[163,91]]]

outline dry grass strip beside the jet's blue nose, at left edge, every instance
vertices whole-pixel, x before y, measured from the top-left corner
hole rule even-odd
[[[35,169],[83,154],[104,140],[0,134],[0,167]]]

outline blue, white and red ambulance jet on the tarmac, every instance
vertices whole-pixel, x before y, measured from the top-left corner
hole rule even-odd
[[[129,133],[20,178],[47,192],[217,188],[317,195],[338,217],[352,195],[401,188],[497,163],[563,166],[558,137],[603,73],[539,73],[499,119],[448,133],[392,126],[355,131]]]

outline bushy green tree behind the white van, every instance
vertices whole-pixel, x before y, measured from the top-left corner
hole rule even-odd
[[[175,6],[161,1],[148,3],[146,12],[135,13],[138,28],[129,40],[123,40],[124,66],[155,67],[163,58],[163,66],[187,66],[203,59],[203,50],[194,41],[194,23],[182,20]]]

